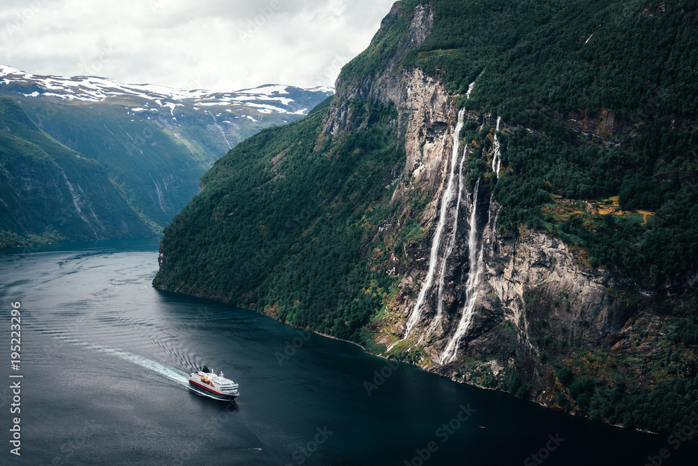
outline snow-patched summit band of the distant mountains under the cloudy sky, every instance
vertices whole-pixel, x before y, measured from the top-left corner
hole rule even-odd
[[[178,118],[194,115],[207,119],[211,135],[221,147],[272,124],[290,122],[306,115],[315,105],[334,94],[334,89],[310,89],[285,85],[262,85],[235,92],[174,89],[159,85],[126,85],[94,76],[43,76],[0,65],[0,94],[15,99],[51,103],[121,103],[126,115],[151,119],[167,127],[186,126]],[[219,155],[220,156],[220,155]]]

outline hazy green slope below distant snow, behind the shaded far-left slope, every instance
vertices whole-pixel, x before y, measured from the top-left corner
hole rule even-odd
[[[158,228],[198,193],[200,176],[215,160],[213,147],[172,137],[177,129],[162,131],[154,120],[129,114],[124,102],[22,100],[22,107],[50,136],[101,163],[131,208]]]

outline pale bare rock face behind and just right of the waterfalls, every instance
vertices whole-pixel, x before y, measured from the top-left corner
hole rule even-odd
[[[392,344],[393,339],[387,334],[405,336],[406,321],[415,308],[420,290],[429,280],[429,268],[433,262],[431,285],[426,286],[419,319],[411,335],[407,335],[406,343],[400,343],[396,349],[415,344],[427,355],[421,361],[424,367],[444,363],[443,351],[454,337],[459,318],[465,312],[466,283],[473,272],[468,261],[471,228],[475,228],[475,247],[482,247],[484,268],[475,286],[472,323],[461,337],[459,359],[477,356],[480,344],[477,339],[482,340],[482,335],[488,330],[505,321],[517,329],[517,344],[533,349],[526,315],[526,298],[533,290],[541,298],[564,300],[564,306],[556,306],[549,314],[533,318],[549,321],[556,328],[555,336],[575,347],[595,347],[609,333],[621,328],[627,315],[624,309],[614,306],[614,300],[607,295],[606,286],[613,282],[609,272],[582,270],[567,245],[544,233],[512,231],[502,235],[498,232],[496,217],[499,207],[491,199],[488,180],[479,184],[475,217],[474,191],[466,186],[462,168],[461,173],[457,173],[459,166],[453,167],[456,182],[451,183],[451,194],[447,196],[452,161],[460,165],[464,158],[467,162],[468,148],[456,148],[458,154],[452,159],[457,112],[452,105],[453,96],[445,91],[443,84],[424,75],[418,68],[408,68],[394,76],[392,84],[394,86],[389,87],[383,81],[369,95],[391,96],[396,102],[407,157],[390,201],[399,206],[398,210],[377,234],[388,243],[401,226],[401,218],[412,214],[409,200],[420,198],[428,203],[420,216],[425,234],[406,245],[403,259],[393,255],[385,264],[389,272],[400,277],[400,281],[389,305],[392,318],[380,323],[378,343]],[[477,115],[471,115],[471,118],[480,123]],[[482,119],[482,122],[486,120]],[[327,121],[334,123],[334,119]],[[441,212],[444,202],[449,205]],[[439,244],[434,247],[442,214],[445,215],[443,230],[438,232]],[[473,219],[475,224],[469,224]],[[436,252],[433,257],[432,249]],[[439,293],[443,318],[436,320]],[[447,373],[447,367],[452,365],[446,365],[439,372]]]

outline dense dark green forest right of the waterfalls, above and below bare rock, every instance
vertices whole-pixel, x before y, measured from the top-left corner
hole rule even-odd
[[[440,75],[470,111],[474,120],[462,133],[463,140],[475,142],[468,180],[487,177],[495,185],[500,228],[546,231],[580,247],[588,265],[603,265],[653,289],[695,275],[698,2],[431,5],[433,31],[404,65]],[[475,87],[465,99],[471,82]],[[498,133],[504,168],[499,180],[487,159],[494,129],[475,124],[486,123],[479,117],[484,114],[502,117],[507,127]],[[604,128],[609,115],[613,123]],[[574,121],[580,119],[591,121],[595,133],[580,131]],[[623,214],[584,209],[587,199],[614,196]],[[560,208],[555,198],[579,207]],[[633,210],[652,215],[643,219]],[[574,377],[563,364],[570,349],[555,348],[554,340],[546,344],[549,338],[542,336],[543,354],[558,365],[565,387],[557,404],[630,428],[668,433],[685,425],[698,411],[698,340],[695,298],[683,300],[685,305],[675,306],[667,297],[653,310],[676,323],[669,341],[654,337],[660,355],[643,363],[642,372],[662,374],[649,387],[615,373],[614,364],[611,377],[586,374],[586,367]]]

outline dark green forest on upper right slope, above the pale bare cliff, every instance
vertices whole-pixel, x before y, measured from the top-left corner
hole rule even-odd
[[[501,141],[514,175],[495,190],[502,226],[553,228],[637,278],[689,273],[698,256],[697,8],[695,1],[498,1],[463,12],[463,2],[438,1],[432,33],[404,66],[438,73],[456,94],[480,76],[466,108],[539,132],[519,129]],[[584,115],[612,119],[609,134],[569,124]],[[549,194],[619,195],[621,207],[657,216],[644,228],[612,216],[584,225],[546,221]]]

